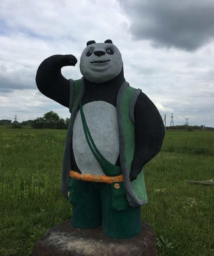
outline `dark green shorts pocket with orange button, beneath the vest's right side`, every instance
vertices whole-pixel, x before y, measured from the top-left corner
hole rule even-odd
[[[131,208],[127,200],[126,191],[123,182],[116,182],[111,184],[112,193],[112,208],[115,211],[124,211]]]

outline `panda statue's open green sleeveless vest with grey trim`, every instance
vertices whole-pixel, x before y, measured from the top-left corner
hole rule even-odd
[[[70,82],[70,102],[69,111],[71,118],[69,122],[64,161],[62,170],[62,194],[67,198],[69,171],[71,170],[70,148],[72,140],[72,131],[74,121],[78,112],[78,106],[85,92],[84,79],[69,80]],[[129,83],[124,82],[117,95],[117,122],[119,128],[119,149],[120,149],[120,164],[121,171],[124,177],[124,189],[127,199],[131,207],[144,205],[147,202],[146,187],[144,181],[143,170],[137,175],[137,179],[130,182],[129,172],[134,156],[135,140],[134,140],[134,106],[141,90],[129,86]]]

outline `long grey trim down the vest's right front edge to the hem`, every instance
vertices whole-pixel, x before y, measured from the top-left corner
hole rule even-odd
[[[124,82],[117,95],[117,122],[119,128],[119,147],[120,147],[120,165],[124,178],[124,189],[126,191],[127,199],[131,207],[138,207],[140,205],[146,204],[147,201],[142,201],[137,198],[134,194],[134,191],[131,186],[130,178],[129,178],[129,170],[126,164],[126,156],[125,156],[125,138],[124,138],[124,129],[123,129],[123,121],[121,114],[121,102],[124,90],[129,86],[129,83]]]

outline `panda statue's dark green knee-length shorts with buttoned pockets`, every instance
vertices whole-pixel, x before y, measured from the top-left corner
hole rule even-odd
[[[123,182],[96,183],[70,178],[69,202],[73,204],[71,226],[101,226],[114,239],[128,239],[140,232],[140,207],[127,201]]]

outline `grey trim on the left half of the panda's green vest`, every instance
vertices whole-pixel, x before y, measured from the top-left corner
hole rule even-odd
[[[74,81],[70,81],[70,86],[74,85]],[[80,95],[77,98],[77,101],[75,103],[72,115],[70,117],[69,121],[69,126],[68,126],[68,131],[67,131],[67,136],[65,140],[65,150],[64,150],[64,159],[63,159],[63,168],[62,168],[62,183],[61,183],[61,192],[62,195],[68,199],[68,183],[69,183],[69,172],[71,170],[71,140],[72,140],[72,131],[73,131],[73,126],[74,126],[74,121],[78,112],[79,104],[80,101],[84,95],[85,92],[85,84],[84,84],[84,79],[82,77],[81,79],[81,91]],[[74,97],[74,86],[73,89],[70,90],[70,102],[69,102],[69,110],[72,108],[72,100]]]

